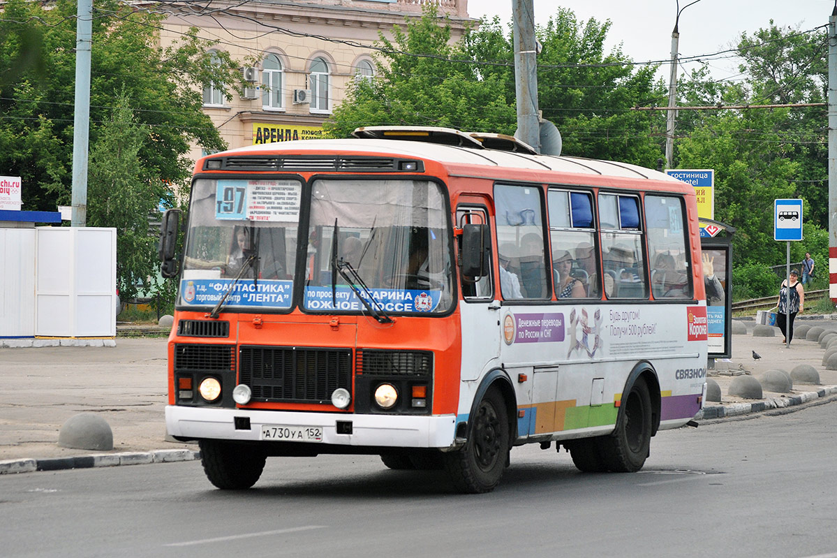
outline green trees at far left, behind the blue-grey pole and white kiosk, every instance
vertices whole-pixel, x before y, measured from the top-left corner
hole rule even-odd
[[[3,6],[0,169],[23,178],[24,209],[54,211],[70,201],[75,10],[66,0],[49,9],[27,0]],[[224,53],[211,64],[211,45],[194,33],[163,49],[161,21],[115,0],[95,6],[88,225],[118,230],[117,282],[129,298],[157,277],[148,218],[158,204],[178,203],[192,143],[226,147],[203,114],[202,86],[236,83],[240,64]]]

